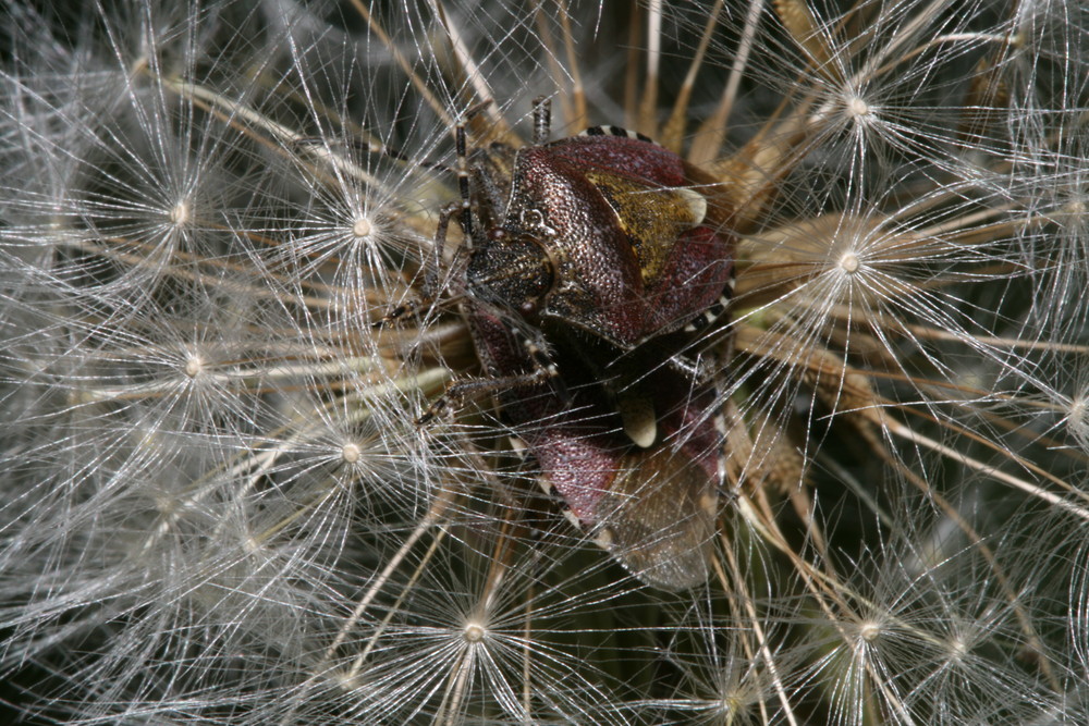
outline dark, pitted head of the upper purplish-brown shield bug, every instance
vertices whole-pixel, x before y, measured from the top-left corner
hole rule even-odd
[[[477,299],[531,315],[552,288],[555,266],[540,239],[497,227],[474,250],[467,274]]]

